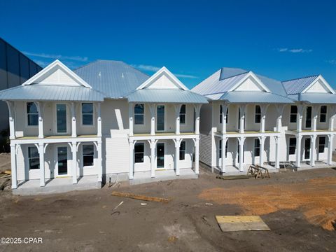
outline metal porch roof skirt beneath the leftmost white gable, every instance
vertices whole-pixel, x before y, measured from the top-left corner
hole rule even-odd
[[[104,101],[105,95],[83,86],[26,85],[0,91],[0,100]]]

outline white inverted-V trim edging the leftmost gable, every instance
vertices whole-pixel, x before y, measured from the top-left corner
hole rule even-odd
[[[66,65],[64,65],[62,62],[60,62],[58,59],[56,59],[54,62],[52,62],[50,65],[45,67],[45,69],[39,71],[36,73],[33,77],[29,78],[29,80],[26,80],[25,83],[22,83],[22,85],[31,85],[38,80],[38,78],[41,78],[45,75],[47,75],[50,71],[55,69],[56,67],[59,67],[59,69],[62,69],[65,73],[69,74],[78,84],[83,85],[84,87],[90,87],[92,88],[89,84],[85,82],[82,78],[80,78],[76,73],[73,73],[71,69],[69,69]]]

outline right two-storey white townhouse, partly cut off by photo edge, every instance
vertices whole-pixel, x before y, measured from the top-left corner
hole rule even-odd
[[[200,161],[225,174],[251,164],[332,165],[336,95],[322,76],[308,79],[222,68],[203,80],[192,90],[210,101],[200,114]]]

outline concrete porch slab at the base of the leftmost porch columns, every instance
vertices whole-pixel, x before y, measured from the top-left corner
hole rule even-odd
[[[40,186],[39,179],[21,181],[17,189],[13,189],[14,195],[47,195],[53,193],[66,193],[73,190],[90,190],[102,188],[102,183],[97,182],[97,176],[82,176],[77,184],[72,183],[71,177],[50,179],[45,186]]]

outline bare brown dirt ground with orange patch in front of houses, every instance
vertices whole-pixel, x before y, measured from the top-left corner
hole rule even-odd
[[[197,180],[35,197],[3,190],[0,237],[42,237],[43,244],[0,244],[0,251],[335,251],[335,195],[335,169],[234,181],[202,170]],[[239,214],[259,214],[271,231],[221,232],[214,216]]]

